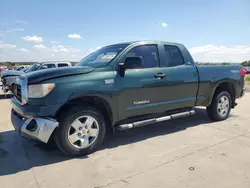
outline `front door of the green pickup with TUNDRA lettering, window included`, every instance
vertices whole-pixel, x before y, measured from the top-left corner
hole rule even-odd
[[[152,114],[164,111],[159,99],[159,90],[165,87],[157,77],[159,67],[158,46],[146,44],[132,48],[126,57],[139,56],[143,59],[142,68],[127,69],[124,77],[117,73],[115,86],[118,88],[119,119]]]

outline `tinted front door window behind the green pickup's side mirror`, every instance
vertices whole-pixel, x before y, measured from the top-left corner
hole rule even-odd
[[[159,55],[157,45],[137,46],[130,50],[126,57],[140,56],[143,59],[144,68],[159,67]]]

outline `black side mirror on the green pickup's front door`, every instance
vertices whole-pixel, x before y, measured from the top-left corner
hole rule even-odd
[[[143,59],[140,56],[127,57],[124,63],[119,63],[119,73],[123,77],[126,69],[143,68]]]

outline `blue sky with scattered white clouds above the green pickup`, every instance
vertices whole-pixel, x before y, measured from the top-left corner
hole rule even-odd
[[[1,0],[0,61],[80,61],[137,40],[183,43],[195,61],[250,60],[250,0]]]

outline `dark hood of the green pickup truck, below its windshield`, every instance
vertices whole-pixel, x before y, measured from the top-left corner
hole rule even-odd
[[[93,70],[95,70],[95,68],[92,67],[80,67],[80,66],[61,67],[61,68],[38,70],[26,73],[25,76],[27,77],[29,84],[35,84],[52,78],[72,76],[77,74],[86,74],[92,72]]]

